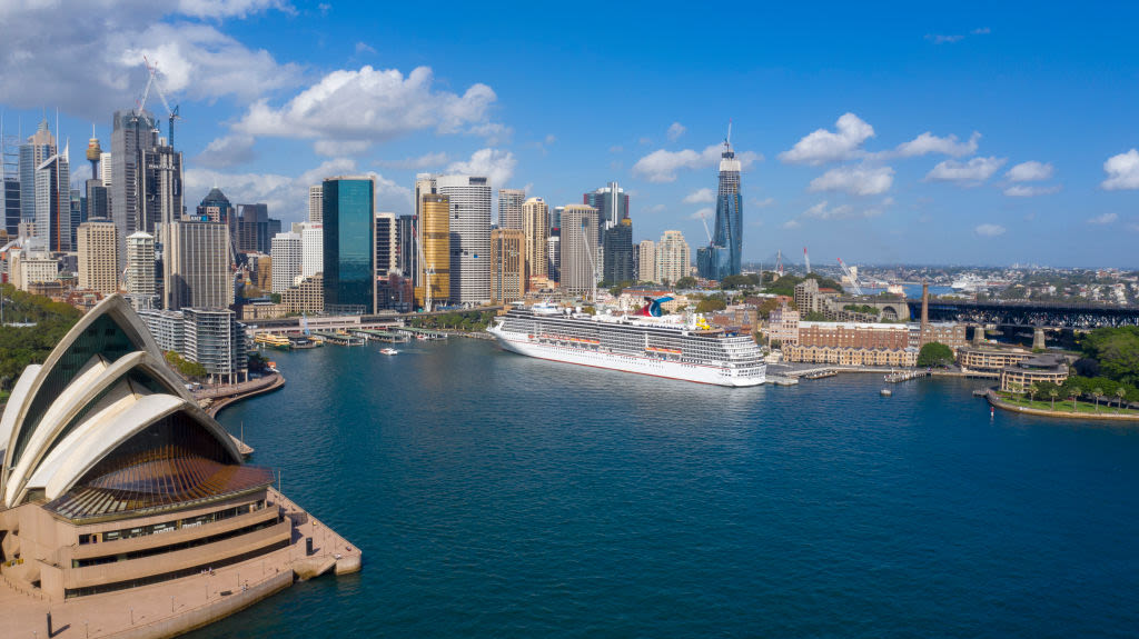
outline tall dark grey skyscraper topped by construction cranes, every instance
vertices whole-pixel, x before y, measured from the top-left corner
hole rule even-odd
[[[115,111],[110,131],[110,218],[121,241],[136,231],[155,233],[142,218],[144,153],[158,144],[158,123],[149,111]],[[125,252],[125,251],[124,251]],[[125,257],[124,257],[125,259]]]

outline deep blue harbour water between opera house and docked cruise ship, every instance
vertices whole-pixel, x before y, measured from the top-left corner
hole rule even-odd
[[[1139,430],[977,382],[720,389],[493,343],[273,354],[222,413],[364,551],[192,637],[1128,637]]]

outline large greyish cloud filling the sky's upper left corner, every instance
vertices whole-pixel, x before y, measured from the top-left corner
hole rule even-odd
[[[241,18],[274,1],[148,0],[0,2],[0,96],[15,108],[58,105],[104,119],[133,106],[146,83],[146,55],[159,68],[166,97],[252,100],[294,85],[295,65],[280,65],[218,26],[179,18]],[[63,17],[62,17],[63,16]],[[170,20],[170,22],[164,22]],[[157,101],[157,100],[156,100]],[[153,105],[151,105],[153,106]]]

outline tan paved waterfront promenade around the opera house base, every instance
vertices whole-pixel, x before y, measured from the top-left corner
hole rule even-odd
[[[165,639],[247,608],[295,580],[360,570],[363,556],[359,548],[277,490],[270,488],[268,497],[293,524],[289,545],[208,573],[64,601],[18,590],[0,576],[0,611],[5,612],[0,637]]]

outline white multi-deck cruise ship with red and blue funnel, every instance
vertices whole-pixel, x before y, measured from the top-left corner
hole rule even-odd
[[[767,365],[751,335],[703,318],[661,316],[648,300],[638,315],[588,315],[549,304],[515,306],[487,329],[505,350],[598,368],[723,387],[762,384]]]

